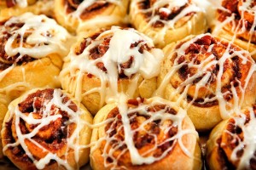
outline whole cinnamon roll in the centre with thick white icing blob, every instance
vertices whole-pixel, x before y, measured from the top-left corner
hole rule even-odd
[[[61,71],[61,86],[96,114],[124,92],[149,98],[156,88],[163,53],[132,29],[113,26],[73,46]]]

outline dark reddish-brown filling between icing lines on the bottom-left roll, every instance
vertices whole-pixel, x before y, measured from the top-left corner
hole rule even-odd
[[[45,116],[43,110],[45,109],[45,105],[49,102],[50,99],[53,99],[54,89],[47,88],[44,90],[38,90],[33,94],[29,94],[26,99],[18,104],[19,110],[21,114],[25,114],[26,116],[31,113],[35,119],[42,119]],[[62,103],[66,104],[70,102],[68,107],[73,111],[78,111],[77,105],[70,101],[70,99],[66,97],[62,97]],[[70,137],[76,127],[73,122],[69,122],[69,115],[66,111],[61,111],[56,105],[52,105],[50,111],[47,114],[50,115],[61,115],[61,118],[56,119],[46,125],[41,127],[38,130],[38,133],[32,137],[32,140],[38,142],[41,146],[43,146],[46,150],[49,150],[53,153],[59,153],[60,150],[66,150],[65,145],[67,144],[67,138]],[[18,137],[13,132],[15,129],[15,116],[9,121],[6,122],[6,133],[3,139],[8,141],[9,144],[15,143],[15,141],[19,140]],[[38,124],[29,124],[22,118],[20,118],[20,131],[22,134],[31,133],[33,129],[38,127]],[[27,148],[29,150],[34,150],[32,153],[35,159],[44,157],[45,153],[41,149],[38,149],[38,146],[32,144],[29,140],[25,139]],[[32,163],[32,160],[26,155],[23,148],[18,145],[15,147],[9,147],[11,160],[15,159],[16,161],[27,161]],[[37,151],[38,150],[38,151]],[[50,161],[53,163],[54,161]]]

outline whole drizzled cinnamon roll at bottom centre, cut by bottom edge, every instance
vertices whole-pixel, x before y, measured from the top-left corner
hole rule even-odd
[[[165,99],[121,96],[96,114],[94,126],[93,169],[201,169],[193,123]]]

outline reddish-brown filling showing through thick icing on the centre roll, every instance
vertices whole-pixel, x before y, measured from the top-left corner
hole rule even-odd
[[[91,42],[95,41],[96,37],[98,37],[102,32],[96,33],[95,35],[93,35],[92,37],[88,37],[86,39],[84,39],[83,42],[80,43],[79,48],[76,49],[76,54],[82,54],[84,52],[84,49],[87,48]],[[109,42],[111,40],[112,36],[110,37],[105,37],[102,41],[102,43],[96,45],[94,48],[90,49],[90,59],[99,59],[101,58],[107,51],[109,48]],[[138,41],[138,42],[134,42],[131,44],[130,48],[136,48],[139,43],[144,42],[143,40]],[[144,50],[149,51],[151,48],[148,47],[147,43],[143,43],[140,48],[138,48],[138,51],[143,54]],[[125,75],[125,69],[130,68],[131,64],[134,60],[134,56],[131,56],[130,59],[128,61],[126,61],[125,63],[122,63],[119,65],[119,78],[128,78]],[[105,65],[102,62],[98,62],[96,63],[96,66],[101,69],[104,72],[108,72]],[[92,77],[92,75],[88,74],[88,77]]]

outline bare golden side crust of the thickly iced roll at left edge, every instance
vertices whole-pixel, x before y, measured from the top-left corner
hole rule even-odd
[[[49,54],[44,59],[15,66],[0,81],[0,88],[8,91],[11,99],[15,99],[26,90],[35,87],[58,88],[60,83],[56,77],[61,71],[61,65],[62,60],[58,54]]]

